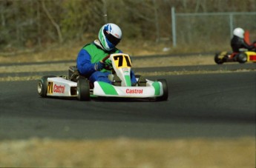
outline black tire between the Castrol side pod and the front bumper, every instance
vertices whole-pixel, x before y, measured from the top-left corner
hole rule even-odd
[[[90,101],[90,83],[87,78],[78,79],[76,92],[79,101]]]

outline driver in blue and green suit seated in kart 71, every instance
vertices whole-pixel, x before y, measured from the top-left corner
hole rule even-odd
[[[85,44],[79,51],[76,66],[81,75],[85,75],[93,84],[94,81],[104,81],[108,84],[114,84],[108,79],[111,70],[105,70],[106,64],[102,59],[112,53],[122,53],[116,48],[122,38],[122,30],[113,23],[105,24],[99,30],[99,39],[94,40],[90,44]],[[121,84],[120,78],[114,75],[113,81]],[[135,86],[137,80],[134,72],[131,70],[131,84]]]

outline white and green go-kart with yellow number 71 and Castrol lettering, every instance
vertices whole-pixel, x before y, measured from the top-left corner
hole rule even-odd
[[[131,59],[128,54],[115,53],[105,57],[102,61],[111,62],[111,74],[108,78],[113,84],[103,81],[95,81],[93,84],[83,75],[80,75],[76,66],[70,66],[68,76],[42,76],[38,81],[37,90],[39,95],[45,97],[74,97],[80,101],[90,101],[91,98],[154,98],[157,101],[168,99],[167,81],[157,79],[151,81],[144,78],[140,84],[140,75],[136,75],[137,84],[131,84]],[[114,81],[114,75],[120,81]],[[117,84],[115,84],[117,83]]]

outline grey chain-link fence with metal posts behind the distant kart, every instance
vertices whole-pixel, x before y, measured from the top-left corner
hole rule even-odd
[[[172,45],[228,44],[234,27],[249,30],[255,38],[256,12],[250,13],[175,13],[171,7]]]

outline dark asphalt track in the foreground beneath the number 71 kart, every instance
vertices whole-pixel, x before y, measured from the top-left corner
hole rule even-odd
[[[40,98],[37,81],[0,82],[0,139],[255,136],[253,73],[168,75],[168,101]]]

